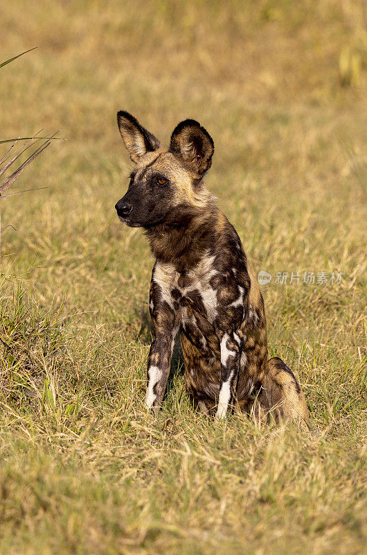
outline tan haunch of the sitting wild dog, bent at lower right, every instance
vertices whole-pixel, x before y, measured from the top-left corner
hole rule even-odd
[[[273,416],[298,422],[302,429],[310,429],[305,394],[292,370],[278,357],[268,361],[268,373],[258,395],[261,417]],[[257,416],[260,416],[258,413]]]

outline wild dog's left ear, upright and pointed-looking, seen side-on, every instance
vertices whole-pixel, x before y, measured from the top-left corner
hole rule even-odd
[[[156,151],[161,146],[159,140],[143,128],[129,112],[124,110],[117,112],[117,124],[127,152],[135,164],[141,156],[147,152]]]

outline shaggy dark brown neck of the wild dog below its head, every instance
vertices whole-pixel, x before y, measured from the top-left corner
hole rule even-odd
[[[173,264],[185,273],[213,247],[222,212],[211,205],[198,213],[183,216],[179,223],[161,223],[145,230],[153,255],[159,262]]]

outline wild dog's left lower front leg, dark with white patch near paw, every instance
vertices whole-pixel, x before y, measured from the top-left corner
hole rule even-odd
[[[145,407],[159,412],[165,388],[167,386],[172,350],[174,345],[173,330],[165,334],[154,336],[150,346],[147,364],[147,392],[145,394]]]

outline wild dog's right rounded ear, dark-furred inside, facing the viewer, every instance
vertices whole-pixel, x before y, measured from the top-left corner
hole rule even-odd
[[[211,167],[214,143],[200,123],[186,119],[174,129],[170,151],[183,158],[195,173],[202,176]]]

